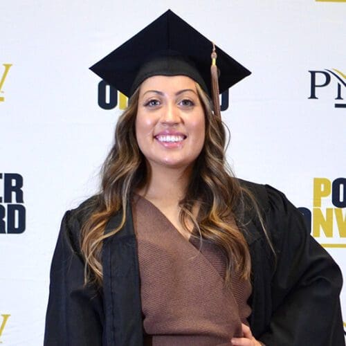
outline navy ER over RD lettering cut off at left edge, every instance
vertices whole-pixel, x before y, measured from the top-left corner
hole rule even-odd
[[[23,176],[18,173],[0,173],[0,234],[19,234],[25,228]]]

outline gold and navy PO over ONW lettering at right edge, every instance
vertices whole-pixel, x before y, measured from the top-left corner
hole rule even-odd
[[[313,179],[313,209],[298,209],[322,246],[346,248],[346,178]]]

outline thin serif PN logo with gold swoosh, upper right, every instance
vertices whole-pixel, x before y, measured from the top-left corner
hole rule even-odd
[[[309,99],[318,100],[317,90],[331,86],[334,88],[335,108],[346,108],[346,102],[343,102],[343,93],[346,91],[346,75],[337,69],[325,69],[323,71],[309,71],[311,76],[311,90]]]

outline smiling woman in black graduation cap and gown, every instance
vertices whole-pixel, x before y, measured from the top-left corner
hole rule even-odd
[[[45,345],[345,344],[338,266],[281,192],[228,173],[210,46],[167,11],[93,66],[131,98],[100,194],[62,221]],[[222,91],[249,72],[217,53]]]

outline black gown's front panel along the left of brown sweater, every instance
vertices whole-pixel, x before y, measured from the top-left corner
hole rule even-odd
[[[105,233],[116,228],[121,212],[111,217]],[[131,203],[125,226],[107,238],[102,248],[105,335],[107,346],[143,345],[138,255]]]

